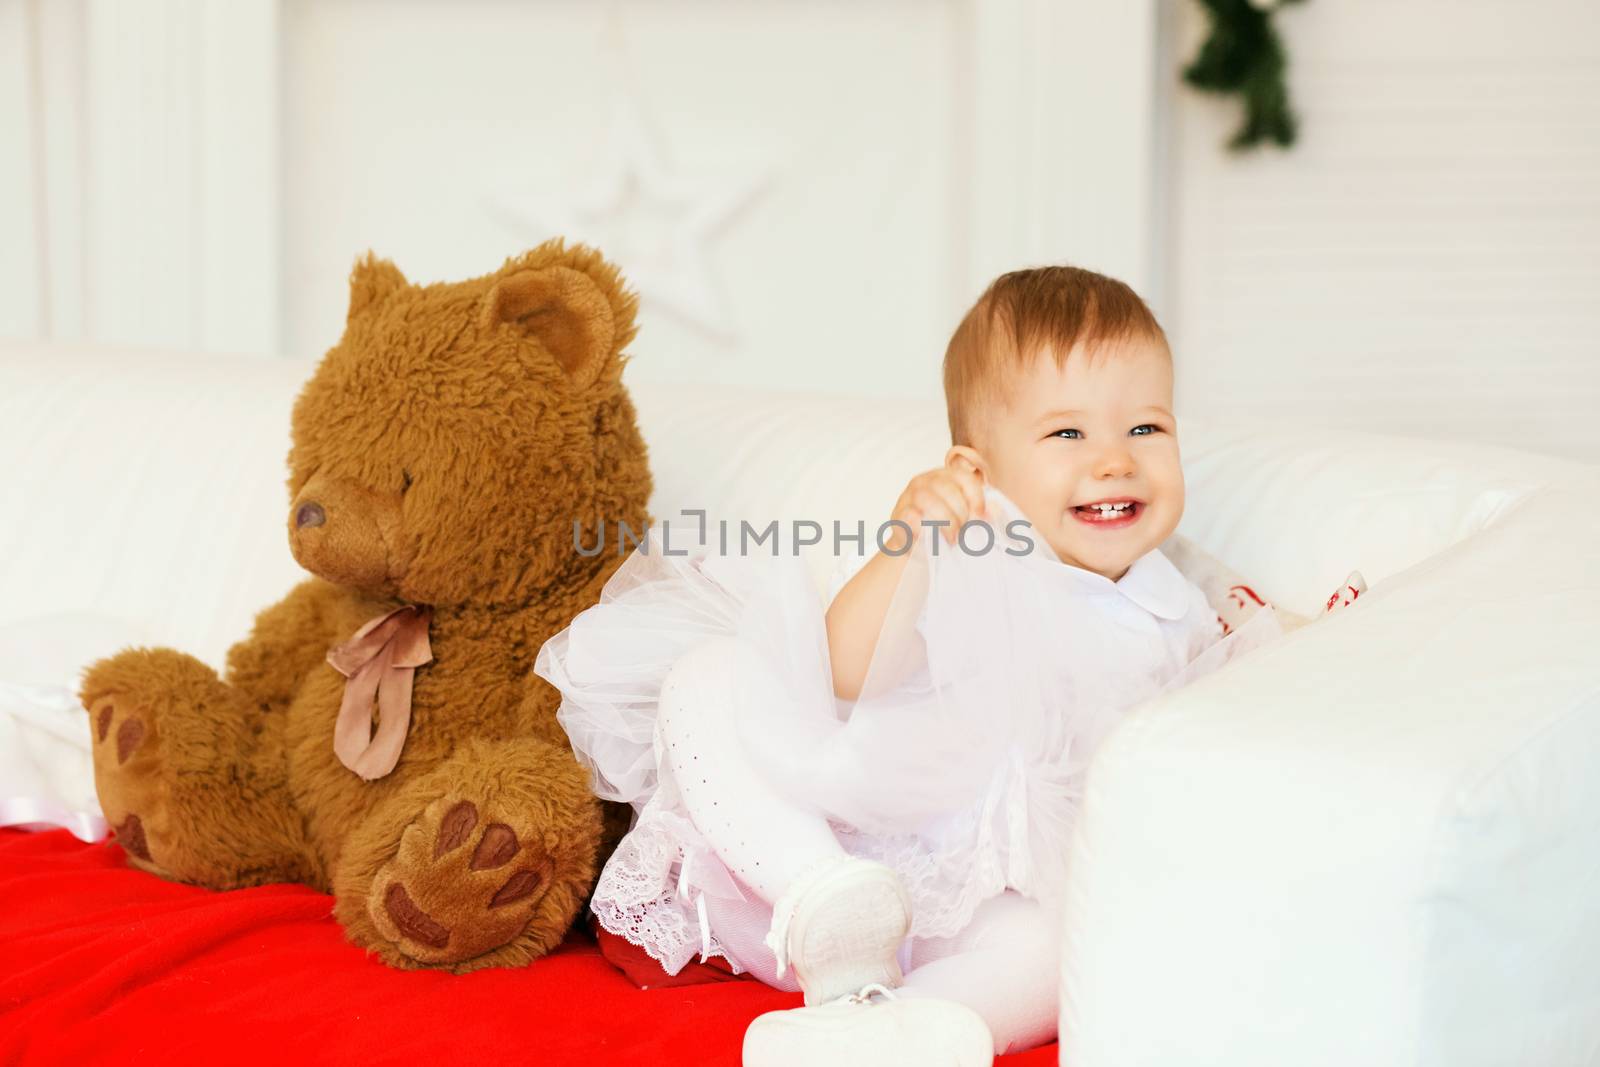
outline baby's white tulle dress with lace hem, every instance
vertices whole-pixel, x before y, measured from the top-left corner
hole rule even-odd
[[[834,696],[826,598],[790,545],[666,555],[659,528],[539,651],[595,792],[635,809],[594,894],[600,923],[669,973],[722,955],[776,985],[771,907],[718,859],[658,757],[661,683],[690,648],[734,638],[738,737],[786,798],[826,816],[845,851],[896,869],[910,939],[950,937],[1006,889],[1061,896],[1083,773],[1123,713],[1278,637],[1270,606],[1222,637],[1216,611],[1160,552],[1118,582],[1066,565],[987,491],[994,549],[912,547],[858,701]],[[870,539],[870,536],[869,536]],[[938,544],[936,544],[938,542]],[[869,557],[842,561],[834,592]]]

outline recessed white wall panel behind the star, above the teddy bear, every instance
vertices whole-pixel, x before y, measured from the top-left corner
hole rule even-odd
[[[368,246],[450,280],[570,234],[630,102],[690,203],[638,189],[595,229],[626,270],[645,267],[632,253],[664,285],[698,272],[723,309],[685,315],[645,288],[632,374],[883,387],[885,365],[942,352],[963,213],[954,5],[674,2],[618,22],[605,5],[286,3],[288,347],[336,339]],[[739,189],[698,248],[664,248],[693,202]]]

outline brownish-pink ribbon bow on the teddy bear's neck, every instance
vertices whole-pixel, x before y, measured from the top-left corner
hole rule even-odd
[[[344,699],[333,726],[339,763],[366,781],[395,769],[411,728],[411,675],[434,659],[427,645],[432,609],[405,605],[381,614],[355,637],[328,651],[328,662],[344,675]],[[378,733],[373,733],[373,697]]]

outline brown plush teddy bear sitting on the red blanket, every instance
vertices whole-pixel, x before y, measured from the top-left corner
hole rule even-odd
[[[165,648],[85,672],[101,805],[134,865],[331,891],[395,966],[520,965],[562,941],[622,827],[530,665],[622,560],[595,528],[650,522],[621,382],[635,309],[560,240],[450,285],[355,267],[344,338],[294,405],[288,533],[314,577],[221,678]]]

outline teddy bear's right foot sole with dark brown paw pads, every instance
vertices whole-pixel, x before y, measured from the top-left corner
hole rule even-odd
[[[406,827],[395,857],[373,875],[366,912],[406,960],[461,965],[522,934],[549,886],[544,840],[526,821],[483,816],[470,800],[443,797]]]

